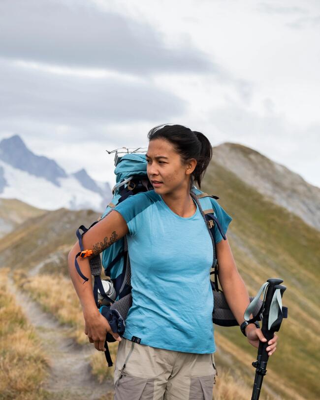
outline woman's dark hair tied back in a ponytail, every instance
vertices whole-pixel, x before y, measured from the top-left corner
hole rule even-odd
[[[182,161],[194,158],[197,162],[191,174],[190,189],[195,181],[201,189],[201,180],[212,158],[212,146],[201,132],[192,131],[183,125],[158,125],[148,133],[148,139],[165,139],[172,143]]]

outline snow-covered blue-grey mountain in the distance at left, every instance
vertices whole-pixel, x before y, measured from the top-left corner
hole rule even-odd
[[[112,193],[107,182],[95,181],[85,169],[67,174],[54,160],[33,154],[14,135],[0,142],[0,198],[47,210],[65,207],[102,212]]]

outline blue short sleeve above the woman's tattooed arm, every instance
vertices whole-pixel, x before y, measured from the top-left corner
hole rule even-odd
[[[126,200],[114,207],[127,223],[130,236],[134,236],[141,228],[142,211],[148,206],[148,198],[144,193],[130,195]]]

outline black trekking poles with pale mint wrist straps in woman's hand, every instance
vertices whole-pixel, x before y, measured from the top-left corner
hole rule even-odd
[[[266,348],[268,347],[268,341],[273,338],[275,332],[279,331],[282,319],[288,316],[288,308],[282,306],[282,296],[287,289],[286,286],[280,285],[282,282],[282,279],[268,279],[261,286],[256,296],[258,299],[261,292],[264,291],[264,299],[259,312],[260,315],[254,317],[252,320],[262,320],[261,331],[267,341],[259,342],[257,359],[252,363],[256,368],[256,376],[251,400],[259,399],[263,377],[267,372],[266,366],[269,356]],[[249,319],[248,316],[251,314],[251,308],[252,306],[249,305],[245,312],[245,320]]]

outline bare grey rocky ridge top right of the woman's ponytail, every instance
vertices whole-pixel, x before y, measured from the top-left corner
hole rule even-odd
[[[214,147],[213,160],[270,201],[320,230],[320,188],[242,144],[223,143]]]

